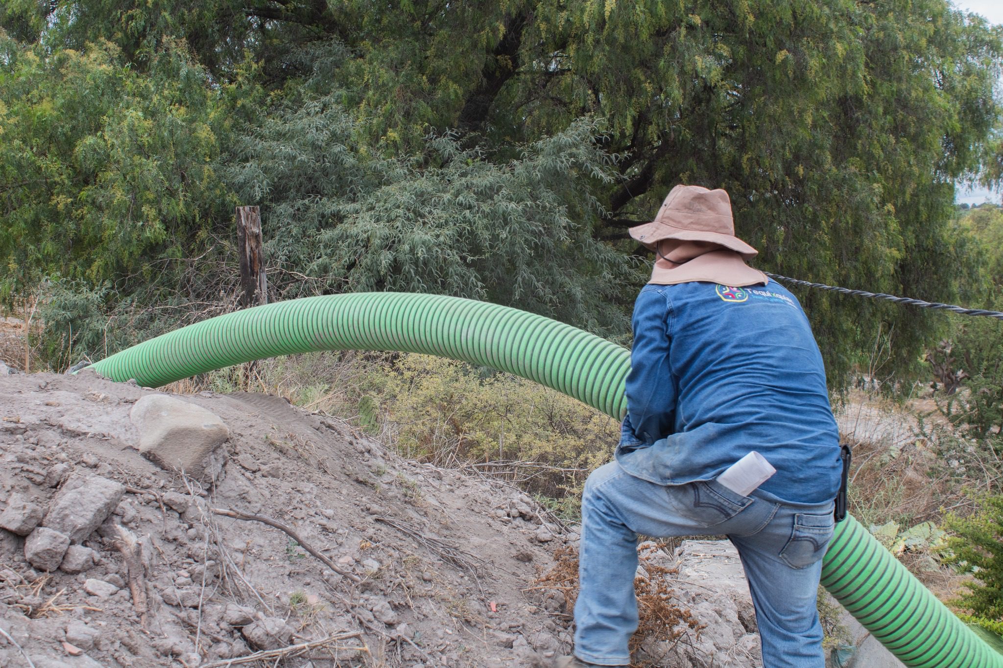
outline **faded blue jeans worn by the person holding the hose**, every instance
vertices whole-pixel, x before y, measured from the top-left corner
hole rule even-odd
[[[727,535],[741,557],[764,668],[822,668],[815,595],[832,529],[832,502],[781,503],[758,490],[743,497],[715,481],[663,487],[611,462],[589,477],[582,498],[575,654],[601,666],[630,663],[638,534],[714,534]]]

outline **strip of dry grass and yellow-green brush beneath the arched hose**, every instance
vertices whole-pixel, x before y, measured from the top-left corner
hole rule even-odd
[[[556,390],[453,360],[317,353],[265,361],[259,370],[272,392],[355,416],[403,457],[475,468],[567,516],[620,438],[617,421]]]

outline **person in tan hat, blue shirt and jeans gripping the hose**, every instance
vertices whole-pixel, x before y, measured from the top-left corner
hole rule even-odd
[[[627,666],[638,536],[723,535],[741,558],[764,668],[822,668],[815,607],[841,448],[793,294],[745,260],[722,189],[678,185],[630,234],[656,252],[634,304],[615,461],[582,498],[574,656]]]

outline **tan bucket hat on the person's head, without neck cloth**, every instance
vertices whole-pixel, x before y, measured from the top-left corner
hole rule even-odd
[[[677,185],[669,191],[651,222],[630,228],[630,235],[655,249],[661,239],[713,241],[749,259],[759,251],[735,236],[728,193],[699,185]]]

